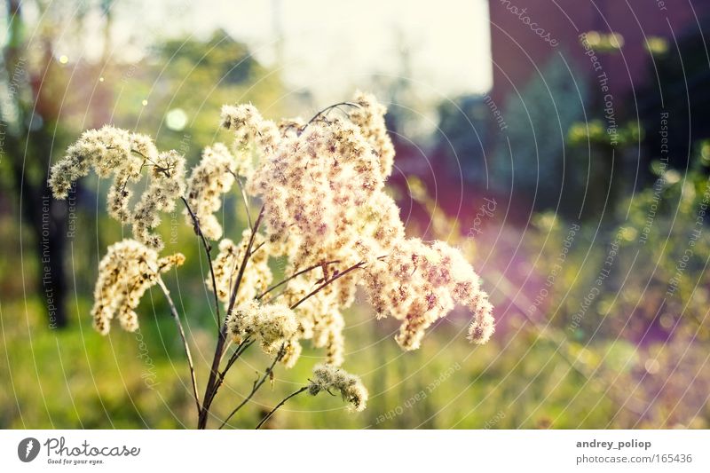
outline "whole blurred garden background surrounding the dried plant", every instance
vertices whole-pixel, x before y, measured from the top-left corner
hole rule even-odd
[[[474,347],[455,312],[404,353],[395,321],[359,304],[344,367],[367,411],[299,397],[270,427],[709,427],[710,3],[6,0],[0,18],[0,428],[193,427],[159,293],[137,333],[91,328],[99,259],[127,229],[96,177],[50,198],[49,167],[82,130],[138,130],[195,163],[229,139],[225,103],[307,118],[356,89],[389,108],[408,233],[464,250],[498,330]],[[234,238],[236,194],[224,209]],[[187,256],[167,282],[203,386],[206,262],[181,214],[162,232]],[[235,425],[321,356],[278,369]],[[241,359],[216,413],[267,363]]]

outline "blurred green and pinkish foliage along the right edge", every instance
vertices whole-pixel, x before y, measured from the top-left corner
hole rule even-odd
[[[611,426],[706,425],[708,380],[699,374],[710,336],[705,150],[698,145],[684,176],[654,163],[657,181],[621,201],[614,223],[581,225],[561,268],[556,258],[574,222],[542,214],[527,238],[541,252],[538,284],[556,272],[540,305],[546,330],[572,341],[572,359],[593,370],[590,379],[615,405],[626,399]],[[631,388],[619,390],[625,383]]]

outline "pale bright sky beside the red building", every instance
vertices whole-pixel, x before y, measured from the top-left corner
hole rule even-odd
[[[492,83],[486,0],[147,4],[136,7],[150,9],[140,12],[151,19],[150,35],[208,36],[224,28],[265,64],[280,56],[287,83],[322,99],[350,95],[372,75],[405,76],[432,97],[484,92]],[[117,15],[117,29],[135,28],[136,12],[126,8]]]

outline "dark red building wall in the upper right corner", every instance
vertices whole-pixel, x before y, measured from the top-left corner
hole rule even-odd
[[[489,0],[489,10],[491,96],[501,104],[513,91],[513,84],[518,89],[523,87],[533,74],[538,74],[535,67],[541,68],[550,55],[558,52],[581,71],[596,75],[580,45],[579,35],[588,31],[623,36],[619,52],[599,58],[610,78],[611,92],[615,96],[632,92],[653,80],[644,37],[667,38],[669,53],[673,53],[674,35],[678,37],[693,28],[697,32],[697,19],[710,12],[710,1]]]

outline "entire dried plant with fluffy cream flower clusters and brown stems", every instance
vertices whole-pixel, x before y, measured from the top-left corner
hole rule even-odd
[[[336,107],[343,117],[330,114]],[[91,169],[99,177],[113,177],[108,214],[132,225],[134,240],[109,247],[99,265],[91,311],[94,326],[106,335],[116,318],[125,330],[136,330],[140,297],[158,285],[184,343],[198,428],[207,426],[225,375],[254,343],[272,356],[272,364],[222,426],[272,378],[277,363],[296,363],[305,340],[325,349],[326,364],[315,367],[312,380],[283,399],[257,427],[304,391],[313,396],[324,390],[339,392],[352,410],[363,410],[367,389],[359,377],[340,367],[345,353],[343,311],[354,303],[358,287],[367,293],[378,318],[401,320],[396,341],[404,350],[418,348],[427,328],[457,304],[473,313],[471,342],[485,343],[493,334],[492,306],[461,252],[442,241],[405,236],[399,209],[384,187],[394,162],[385,112],[364,93],[327,107],[309,122],[277,124],[265,120],[254,106],[225,106],[221,124],[233,131],[233,146],[206,148],[187,177],[182,156],[161,153],[151,138],[111,126],[83,133],[52,167],[50,185],[59,199]],[[144,170],[146,191],[134,199],[132,188],[144,178]],[[220,240],[223,227],[215,216],[223,195],[235,184],[248,214],[248,228],[236,244]],[[175,209],[178,200],[209,261],[206,284],[215,296],[219,327],[202,397],[180,316],[161,279],[162,272],[185,258],[159,257],[162,240],[153,233],[160,214]],[[249,201],[262,202],[255,219],[249,215]],[[219,240],[214,259],[209,240]],[[275,284],[269,266],[274,257],[288,262],[288,276]],[[230,344],[236,348],[227,358]]]

